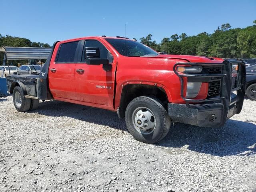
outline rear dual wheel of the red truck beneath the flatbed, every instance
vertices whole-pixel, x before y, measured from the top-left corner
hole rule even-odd
[[[25,112],[30,109],[30,98],[25,98],[21,87],[16,86],[12,92],[12,100],[18,112]]]

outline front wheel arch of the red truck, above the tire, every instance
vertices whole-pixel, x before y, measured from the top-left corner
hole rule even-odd
[[[136,97],[140,96],[154,96],[158,98],[167,109],[167,103],[170,100],[170,96],[168,97],[168,93],[166,89],[160,84],[154,83],[142,83],[142,82],[134,82],[134,83],[126,83],[122,85],[119,94],[119,103],[117,108],[117,113],[119,118],[124,118],[125,110],[128,104]]]

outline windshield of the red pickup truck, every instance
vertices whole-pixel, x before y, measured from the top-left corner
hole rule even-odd
[[[148,46],[125,39],[106,39],[121,55],[128,57],[157,56],[158,52]]]

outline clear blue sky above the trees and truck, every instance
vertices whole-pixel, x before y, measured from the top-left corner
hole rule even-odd
[[[256,0],[0,0],[0,34],[52,45],[83,36],[212,33],[221,24],[244,28],[256,20]]]

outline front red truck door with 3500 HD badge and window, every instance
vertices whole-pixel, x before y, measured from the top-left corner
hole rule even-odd
[[[85,62],[85,47],[98,47],[100,58],[108,59],[112,70],[104,71],[101,65],[88,65]],[[108,45],[100,40],[86,39],[82,51],[82,59],[75,66],[76,95],[78,100],[113,106],[114,76],[116,60]]]

